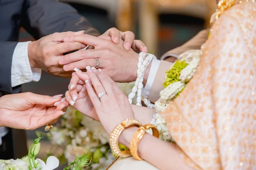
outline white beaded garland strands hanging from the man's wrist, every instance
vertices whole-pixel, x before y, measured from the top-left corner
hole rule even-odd
[[[141,106],[143,77],[145,74],[145,70],[147,69],[149,63],[152,61],[153,58],[157,57],[155,57],[153,54],[146,54],[144,52],[140,52],[137,64],[137,79],[131,93],[128,95],[128,100],[130,104],[132,104],[132,99],[137,93],[136,105]]]

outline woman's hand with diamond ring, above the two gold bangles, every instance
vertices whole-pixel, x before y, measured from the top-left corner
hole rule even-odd
[[[81,77],[81,74],[76,74]],[[87,74],[91,81],[91,83],[85,81],[88,95],[97,112],[99,121],[108,134],[111,134],[113,128],[123,120],[134,119],[134,112],[127,96],[110,77],[96,69],[88,69]],[[103,92],[106,92],[106,94],[99,99],[98,94]]]

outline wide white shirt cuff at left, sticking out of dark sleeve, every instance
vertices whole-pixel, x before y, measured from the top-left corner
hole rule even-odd
[[[41,78],[40,68],[31,68],[29,64],[28,45],[29,42],[19,42],[12,56],[12,87],[27,82],[38,82]]]

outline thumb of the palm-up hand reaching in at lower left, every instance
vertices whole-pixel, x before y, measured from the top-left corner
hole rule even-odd
[[[58,94],[55,96],[45,96],[45,95],[40,95],[40,94],[33,94],[30,93],[29,96],[27,96],[28,101],[35,105],[54,105],[55,102],[58,102],[61,100],[61,96],[63,94]]]

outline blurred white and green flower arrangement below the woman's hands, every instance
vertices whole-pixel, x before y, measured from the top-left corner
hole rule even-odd
[[[134,83],[118,83],[128,95]],[[42,132],[37,132],[41,135]],[[109,136],[100,122],[84,116],[79,111],[68,108],[61,117],[61,124],[45,133],[53,144],[48,155],[55,155],[61,163],[72,163],[79,155],[88,153],[88,170],[105,170],[115,159],[109,146]]]

